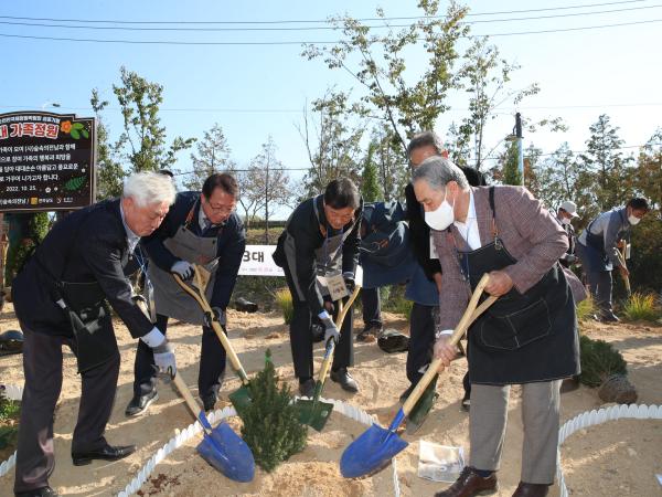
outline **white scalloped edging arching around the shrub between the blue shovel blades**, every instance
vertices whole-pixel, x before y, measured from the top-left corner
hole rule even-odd
[[[367,414],[365,411],[355,408],[353,405],[346,404],[342,401],[332,400],[332,399],[320,399],[322,402],[330,402],[333,404],[333,410],[343,414],[359,423],[371,426],[376,422],[374,417]],[[223,410],[216,410],[210,414],[207,414],[207,419],[211,424],[215,424],[218,421],[225,420],[226,417],[236,416],[237,413],[233,406],[227,406]],[[161,448],[157,451],[154,455],[152,455],[148,462],[140,468],[136,477],[125,487],[124,490],[117,494],[117,497],[129,497],[136,494],[140,487],[147,482],[151,473],[154,470],[157,464],[163,461],[171,452],[175,448],[180,447],[184,442],[189,441],[191,437],[195,436],[202,431],[200,423],[194,422],[186,426],[185,430],[182,430],[179,434],[170,438],[167,444],[164,444]],[[399,489],[399,480],[397,478],[397,466],[395,464],[395,458],[392,459],[392,475],[393,475],[393,495],[394,497],[401,496]]]

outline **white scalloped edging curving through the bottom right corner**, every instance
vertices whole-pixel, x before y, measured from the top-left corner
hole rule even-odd
[[[645,404],[619,404],[610,408],[602,408],[592,411],[586,411],[577,414],[572,420],[566,421],[558,430],[558,448],[556,450],[558,487],[560,497],[568,497],[568,489],[565,484],[565,477],[560,467],[560,444],[577,430],[584,430],[596,424],[602,424],[613,420],[662,420],[662,405]]]

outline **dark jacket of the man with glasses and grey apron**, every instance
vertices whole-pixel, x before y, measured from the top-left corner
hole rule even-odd
[[[200,214],[199,199],[200,192],[197,191],[178,193],[174,204],[168,211],[168,215],[166,215],[159,229],[140,242],[150,258],[161,269],[170,271],[172,265],[179,261],[179,257],[174,256],[163,245],[163,242],[174,236],[177,231],[186,223],[186,218],[191,209],[193,209],[193,215],[189,223],[189,229],[194,234],[202,236],[197,221]],[[220,257],[210,305],[225,309],[229,303],[229,297],[237,281],[242,257],[246,250],[246,230],[237,213],[233,212],[222,226],[212,228],[203,236],[215,236],[217,239],[216,256]]]

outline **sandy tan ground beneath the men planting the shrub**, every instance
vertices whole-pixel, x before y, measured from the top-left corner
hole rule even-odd
[[[407,324],[397,316],[385,315],[387,327],[406,330]],[[287,328],[277,314],[228,313],[231,341],[250,376],[261,369],[264,352],[270,348],[280,377],[292,388],[297,382],[292,374]],[[0,316],[0,328],[15,328],[11,305]],[[74,467],[68,456],[71,437],[77,414],[79,380],[75,359],[65,353],[64,385],[56,411],[55,451],[56,466],[51,484],[63,495],[100,496],[114,495],[124,489],[145,462],[171,436],[175,429],[192,422],[191,414],[174,390],[159,385],[160,399],[152,404],[149,414],[127,419],[124,410],[131,398],[132,363],[136,341],[121,322],[116,324],[122,355],[117,399],[107,429],[110,443],[136,443],[138,451],[115,463],[95,462],[90,466]],[[630,380],[639,391],[639,403],[662,404],[662,327],[648,324],[609,326],[590,322],[585,332],[592,338],[612,342],[629,362]],[[200,329],[172,324],[169,337],[177,346],[178,363],[182,378],[195,393]],[[316,360],[321,360],[322,349],[316,349]],[[468,453],[468,415],[460,409],[461,379],[466,362],[459,360],[445,374],[438,387],[439,399],[423,427],[413,436],[403,435],[409,446],[398,455],[401,488],[404,496],[431,496],[447,484],[427,482],[417,476],[418,441],[433,441],[445,445],[461,445]],[[328,381],[324,396],[340,399],[375,414],[382,425],[387,425],[399,408],[398,395],[407,387],[405,355],[386,355],[376,343],[355,345],[354,378],[360,392],[350,395],[335,383]],[[227,394],[238,387],[231,374],[223,385],[222,398],[216,408],[228,404]],[[20,356],[0,358],[0,382],[22,384]],[[584,387],[563,395],[562,421],[601,405],[595,390]],[[363,427],[334,413],[322,433],[311,430],[308,448],[281,465],[273,474],[258,469],[250,484],[229,482],[206,465],[194,452],[195,441],[175,451],[157,466],[142,495],[206,496],[344,496],[388,495],[389,472],[372,478],[345,480],[338,469],[340,454],[352,436]],[[520,452],[522,423],[517,389],[513,389],[510,403],[508,435],[499,473],[500,496],[512,495],[520,479]],[[573,435],[563,446],[562,463],[568,488],[578,496],[653,496],[662,495],[662,487],[654,474],[662,473],[660,447],[662,422],[619,421],[596,426]],[[0,478],[0,495],[9,496],[13,476]],[[553,487],[551,495],[557,495]]]

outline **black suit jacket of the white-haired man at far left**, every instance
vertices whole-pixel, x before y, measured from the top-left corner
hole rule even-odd
[[[72,336],[65,313],[55,304],[54,279],[97,282],[132,337],[153,325],[131,299],[127,274],[135,269],[119,199],[76,211],[57,222],[14,278],[12,298],[17,317],[30,330]]]

